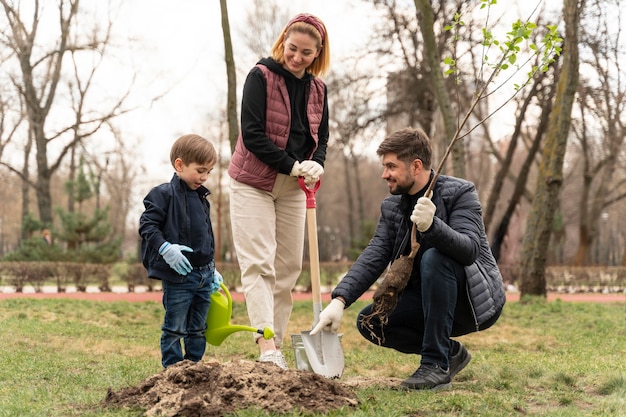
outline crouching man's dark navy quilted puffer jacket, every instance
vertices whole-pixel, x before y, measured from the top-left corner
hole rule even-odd
[[[408,195],[392,195],[383,200],[374,237],[333,290],[333,298],[341,296],[349,306],[383,275],[390,262],[408,254],[412,227],[410,215],[416,199]],[[500,313],[506,294],[487,241],[476,189],[468,181],[440,175],[433,187],[432,201],[437,211],[432,226],[426,232],[418,233],[420,250],[411,279],[418,278],[421,254],[431,247],[464,265],[467,297],[478,329]]]

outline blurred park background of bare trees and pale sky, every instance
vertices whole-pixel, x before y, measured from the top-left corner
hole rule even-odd
[[[458,125],[498,68],[493,39],[503,45],[528,30],[516,59],[473,108],[444,173],[476,184],[507,283],[526,280],[529,292],[545,292],[546,276],[558,270],[564,285],[587,276],[599,291],[623,291],[625,42],[613,22],[625,10],[618,1],[0,3],[0,252],[12,261],[3,276],[13,280],[5,283],[23,268],[15,262],[33,260],[61,262],[70,283],[76,261],[97,265],[81,276],[97,276],[103,264],[121,269],[119,276],[141,274],[142,197],[169,180],[169,147],[192,131],[220,151],[208,183],[216,255],[236,271],[226,168],[241,87],[285,22],[305,11],[327,24],[332,55],[325,77],[331,139],[317,194],[329,284],[367,244],[387,195],[377,143],[396,128],[421,126],[437,164],[453,136],[450,115]],[[566,44],[553,61],[541,61],[533,45],[546,50],[551,26],[572,39],[564,36],[568,22],[576,54]],[[428,59],[433,52],[438,68]],[[447,95],[437,91],[433,69],[445,75]],[[573,91],[571,109],[560,83]],[[564,130],[550,129],[557,115]],[[554,161],[550,170],[546,161]],[[42,243],[43,228],[52,245]]]

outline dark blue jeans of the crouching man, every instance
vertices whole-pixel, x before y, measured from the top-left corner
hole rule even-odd
[[[378,337],[381,346],[420,354],[421,363],[447,369],[453,343],[450,337],[476,331],[465,296],[465,270],[434,248],[424,252],[419,267],[420,279],[409,282],[387,324],[381,326],[374,318],[371,329],[363,327],[363,317],[372,311],[370,304],[359,313],[357,329],[372,343],[378,344]]]

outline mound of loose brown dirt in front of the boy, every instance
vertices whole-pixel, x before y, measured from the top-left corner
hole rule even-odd
[[[106,407],[139,407],[146,416],[222,416],[250,407],[285,413],[328,412],[355,407],[356,395],[338,381],[313,372],[283,370],[273,363],[183,361],[136,387],[109,389]]]

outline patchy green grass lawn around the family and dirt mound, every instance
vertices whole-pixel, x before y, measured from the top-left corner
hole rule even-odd
[[[346,359],[342,380],[408,376],[418,356],[368,344],[356,332],[355,317],[364,305],[348,309],[340,328]],[[0,301],[0,417],[128,416],[128,410],[100,404],[109,388],[138,385],[161,370],[162,314],[155,302]],[[242,303],[235,303],[233,317],[232,323],[247,324]],[[311,321],[310,302],[297,302],[290,333],[310,328]],[[494,327],[459,340],[473,359],[452,389],[362,388],[356,392],[357,409],[329,415],[626,415],[624,304],[508,303]],[[285,344],[293,366],[290,341]],[[256,355],[252,336],[240,332],[219,347],[209,346],[206,357],[226,362]]]

